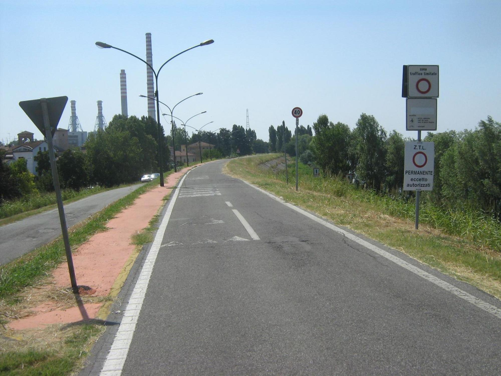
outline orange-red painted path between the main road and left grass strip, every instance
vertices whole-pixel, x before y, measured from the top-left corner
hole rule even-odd
[[[143,194],[134,205],[111,220],[107,225],[108,231],[94,235],[78,249],[72,250],[78,285],[90,287],[88,291],[92,296],[103,298],[100,302],[77,304],[73,301],[71,306],[61,306],[56,302],[37,302],[36,306],[29,308],[25,317],[7,324],[8,332],[11,332],[7,334],[16,336],[18,331],[50,324],[104,320],[138,255],[134,252],[136,246],[131,244],[131,237],[148,227],[149,221],[165,203],[164,197],[172,191],[182,175],[194,167],[185,167],[168,175],[165,186],[157,186]],[[46,285],[48,288],[65,289],[70,286],[66,262],[54,271],[51,282]]]

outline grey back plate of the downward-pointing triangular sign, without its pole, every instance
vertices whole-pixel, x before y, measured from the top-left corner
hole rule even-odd
[[[49,123],[51,124],[51,133],[54,136],[59,120],[63,114],[68,97],[46,98],[47,109],[49,111]],[[45,136],[44,115],[42,113],[42,99],[34,99],[31,101],[19,102],[19,106],[26,112],[28,117],[33,121],[37,128]]]

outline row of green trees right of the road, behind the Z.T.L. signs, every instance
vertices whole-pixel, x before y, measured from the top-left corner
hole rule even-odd
[[[283,133],[286,151],[295,155],[294,137],[281,127],[270,127],[270,148],[283,150],[279,138]],[[388,134],[374,116],[365,113],[353,130],[329,121],[325,114],[314,122],[313,130],[313,137],[298,132],[298,142],[303,137],[298,153],[302,162],[317,164],[324,175],[353,173],[356,183],[380,193],[414,194],[403,191],[404,145],[410,138],[395,130]],[[474,130],[429,132],[423,141],[435,143],[435,165],[433,191],[423,192],[421,197],[444,208],[480,210],[500,220],[501,124],[488,116]]]

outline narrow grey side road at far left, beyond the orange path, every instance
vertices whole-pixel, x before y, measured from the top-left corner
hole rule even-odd
[[[64,205],[68,228],[114,203],[140,184],[102,192]],[[0,227],[0,265],[14,261],[25,253],[43,246],[61,236],[58,209],[38,214],[22,221]]]

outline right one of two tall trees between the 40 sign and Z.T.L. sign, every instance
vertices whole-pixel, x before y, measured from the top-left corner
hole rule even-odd
[[[372,189],[380,191],[385,176],[386,131],[374,116],[363,113],[357,120],[353,135],[358,157],[357,175]]]

